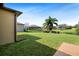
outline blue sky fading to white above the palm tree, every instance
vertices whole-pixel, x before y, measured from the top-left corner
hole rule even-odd
[[[17,22],[42,26],[49,16],[58,24],[75,25],[79,21],[79,4],[73,3],[7,3],[5,6],[22,11]]]

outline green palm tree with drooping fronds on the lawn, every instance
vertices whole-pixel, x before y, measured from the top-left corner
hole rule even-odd
[[[51,18],[51,17],[49,16],[49,18],[45,20],[45,23],[43,24],[43,28],[44,28],[44,29],[47,29],[47,31],[51,32],[52,29],[53,29],[53,25],[54,25],[54,24],[55,24],[55,25],[58,25],[58,24],[57,24],[57,21],[58,21],[58,20],[57,20],[56,18]]]

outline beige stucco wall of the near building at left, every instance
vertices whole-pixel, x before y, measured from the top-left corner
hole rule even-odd
[[[0,45],[14,42],[14,13],[0,9]]]

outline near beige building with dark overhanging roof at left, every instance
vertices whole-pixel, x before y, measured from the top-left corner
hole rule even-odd
[[[16,18],[22,12],[0,3],[0,45],[16,41]]]

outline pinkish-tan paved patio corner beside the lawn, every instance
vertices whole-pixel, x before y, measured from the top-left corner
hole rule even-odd
[[[79,56],[79,46],[62,43],[54,56]]]

